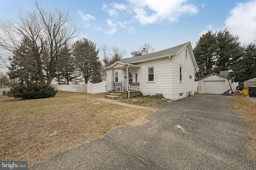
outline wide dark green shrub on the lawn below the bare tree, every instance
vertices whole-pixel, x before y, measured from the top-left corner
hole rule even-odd
[[[23,99],[41,99],[54,97],[57,92],[51,86],[26,82],[26,84],[20,84],[20,86],[12,88],[7,93],[7,96]]]

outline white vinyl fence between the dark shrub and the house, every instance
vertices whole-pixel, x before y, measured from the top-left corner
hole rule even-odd
[[[96,84],[72,84],[72,85],[55,85],[56,90],[68,91],[68,92],[78,92],[78,93],[102,93],[105,92],[105,82],[100,82]]]

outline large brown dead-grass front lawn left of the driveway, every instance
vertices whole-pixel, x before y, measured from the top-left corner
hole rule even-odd
[[[72,92],[36,100],[0,96],[0,160],[28,160],[32,165],[152,113],[95,99],[103,96]]]

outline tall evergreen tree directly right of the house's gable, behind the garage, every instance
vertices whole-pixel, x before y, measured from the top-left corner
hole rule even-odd
[[[216,51],[217,41],[215,34],[212,31],[208,31],[200,37],[194,48],[194,55],[198,64],[198,71],[196,72],[197,79],[213,72]]]

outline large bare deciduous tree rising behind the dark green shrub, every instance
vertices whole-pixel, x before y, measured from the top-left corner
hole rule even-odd
[[[42,9],[37,1],[34,4],[32,12],[18,11],[19,23],[0,20],[0,47],[15,52],[19,50],[22,40],[29,41],[31,57],[28,57],[28,62],[36,63],[34,66],[40,82],[50,85],[56,63],[61,57],[60,49],[82,29],[74,24],[68,12],[60,9],[50,12]],[[46,50],[48,55],[42,57]],[[48,62],[44,65],[42,58],[46,56]]]

